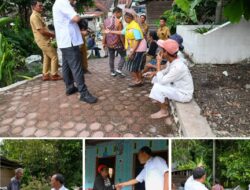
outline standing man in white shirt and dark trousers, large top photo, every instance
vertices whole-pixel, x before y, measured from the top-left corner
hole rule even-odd
[[[70,4],[70,0],[56,0],[53,5],[53,20],[58,48],[62,51],[63,79],[66,85],[66,95],[80,92],[80,100],[87,103],[97,102],[85,85],[82,68],[80,45],[83,44],[78,22],[80,16]],[[74,86],[77,84],[77,88]]]

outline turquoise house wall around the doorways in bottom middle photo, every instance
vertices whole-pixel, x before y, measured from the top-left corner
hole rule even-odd
[[[167,150],[167,142],[166,140],[115,140],[96,146],[86,146],[85,189],[93,188],[97,157],[102,158],[116,155],[115,183],[119,183],[133,178],[133,156],[141,147],[150,146],[151,144],[152,151]],[[117,144],[122,144],[123,146],[123,153],[121,155],[117,155],[114,152],[114,146]],[[132,187],[123,189],[132,190]]]

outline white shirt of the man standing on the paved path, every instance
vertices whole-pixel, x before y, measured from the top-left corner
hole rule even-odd
[[[68,48],[83,44],[80,28],[72,18],[77,13],[69,0],[56,0],[53,5],[53,20],[56,32],[56,41],[59,48]]]

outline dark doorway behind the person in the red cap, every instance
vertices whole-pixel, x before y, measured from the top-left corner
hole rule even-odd
[[[111,182],[115,182],[115,162],[116,157],[115,156],[109,156],[109,157],[103,157],[103,158],[96,158],[96,175],[98,174],[98,166],[101,164],[106,165],[109,168],[109,177],[111,179]]]

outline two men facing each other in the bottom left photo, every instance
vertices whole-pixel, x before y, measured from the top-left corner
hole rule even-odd
[[[11,178],[9,185],[7,186],[7,190],[21,190],[21,179],[23,177],[23,168],[17,168],[15,170],[15,176]],[[68,190],[64,186],[64,177],[62,174],[57,173],[54,174],[50,179],[51,190]]]

